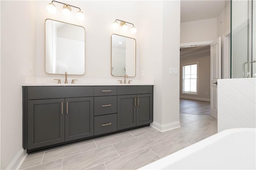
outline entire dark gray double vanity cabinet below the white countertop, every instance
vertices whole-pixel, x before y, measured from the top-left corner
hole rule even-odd
[[[28,153],[153,121],[152,85],[22,88],[23,148]]]

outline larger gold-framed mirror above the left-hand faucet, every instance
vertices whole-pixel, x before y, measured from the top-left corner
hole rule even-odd
[[[45,20],[45,71],[49,74],[83,75],[85,29],[65,22]]]

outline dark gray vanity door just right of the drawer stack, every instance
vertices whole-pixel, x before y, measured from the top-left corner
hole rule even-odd
[[[136,95],[117,96],[117,130],[136,126]]]

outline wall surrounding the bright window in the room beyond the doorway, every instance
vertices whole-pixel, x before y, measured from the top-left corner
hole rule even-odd
[[[198,95],[182,94],[182,64],[198,62]],[[180,58],[180,98],[210,101],[210,51]]]

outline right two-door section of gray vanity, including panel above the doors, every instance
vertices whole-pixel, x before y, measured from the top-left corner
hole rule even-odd
[[[117,129],[148,125],[153,121],[153,86],[118,86]]]

